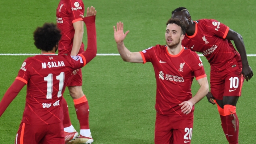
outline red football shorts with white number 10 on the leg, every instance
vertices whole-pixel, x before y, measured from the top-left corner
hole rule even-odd
[[[215,99],[222,100],[223,96],[241,96],[244,77],[241,69],[210,73],[211,93]]]

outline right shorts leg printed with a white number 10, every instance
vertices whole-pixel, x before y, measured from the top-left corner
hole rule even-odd
[[[244,77],[239,71],[230,72],[225,78],[224,96],[241,96]]]

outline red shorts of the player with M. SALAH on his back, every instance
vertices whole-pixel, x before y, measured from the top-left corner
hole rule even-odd
[[[16,134],[15,144],[64,144],[62,123],[29,125],[21,123]]]

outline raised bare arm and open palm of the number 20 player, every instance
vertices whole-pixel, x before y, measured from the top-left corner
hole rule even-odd
[[[130,52],[123,44],[123,40],[129,33],[129,31],[126,31],[125,34],[123,33],[123,23],[119,22],[117,23],[117,29],[115,26],[113,26],[113,28],[114,38],[117,43],[117,49],[123,61],[131,63],[143,63],[142,56],[140,55],[139,52]]]

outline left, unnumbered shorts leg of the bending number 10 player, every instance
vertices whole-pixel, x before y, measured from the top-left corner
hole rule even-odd
[[[210,88],[211,93],[215,99],[222,100],[224,94],[225,81],[222,79],[221,74],[211,72],[210,75]]]

